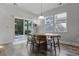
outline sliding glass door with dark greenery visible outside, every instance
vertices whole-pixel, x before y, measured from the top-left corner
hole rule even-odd
[[[15,35],[27,35],[32,32],[32,21],[15,18]]]

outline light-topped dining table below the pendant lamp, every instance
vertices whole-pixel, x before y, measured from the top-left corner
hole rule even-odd
[[[61,38],[61,34],[57,34],[57,33],[35,33],[33,34],[35,36],[45,36],[45,37],[50,37],[51,38],[51,41],[52,44],[53,44],[53,47],[54,47],[54,51],[55,51],[55,55],[56,55],[56,45],[58,46],[59,48],[59,53],[60,53],[60,38]],[[45,41],[47,41],[48,39],[45,39]],[[40,43],[40,40],[39,40],[39,43]],[[52,46],[51,44],[51,46]]]

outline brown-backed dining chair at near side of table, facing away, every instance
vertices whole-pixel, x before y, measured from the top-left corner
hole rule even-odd
[[[43,35],[33,35],[33,48],[37,49],[38,55],[40,52],[43,52],[43,50],[46,50],[46,36]],[[43,48],[43,50],[42,50]]]

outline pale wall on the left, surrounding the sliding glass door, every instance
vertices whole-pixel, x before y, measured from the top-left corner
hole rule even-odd
[[[10,43],[14,40],[14,17],[34,17],[33,14],[8,4],[0,4],[0,44]]]

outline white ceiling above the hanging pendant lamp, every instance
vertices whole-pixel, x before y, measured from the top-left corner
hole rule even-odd
[[[15,5],[36,15],[39,15],[41,13],[41,3],[17,3]],[[58,5],[58,3],[43,3],[42,12],[46,12],[59,6],[60,5]]]

